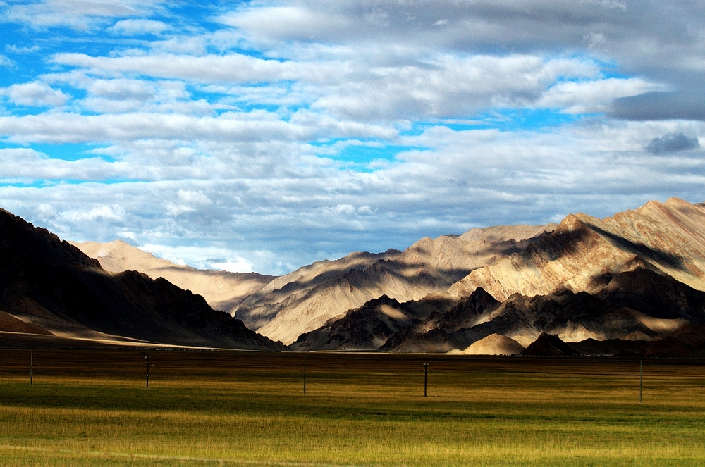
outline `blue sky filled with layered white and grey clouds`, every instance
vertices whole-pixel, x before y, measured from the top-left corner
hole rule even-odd
[[[0,0],[0,31],[0,207],[62,239],[280,275],[705,201],[702,1]]]

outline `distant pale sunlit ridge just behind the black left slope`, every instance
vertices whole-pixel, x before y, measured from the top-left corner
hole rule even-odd
[[[97,259],[104,270],[121,273],[138,270],[152,279],[164,278],[173,285],[201,295],[214,310],[230,310],[243,298],[257,292],[276,278],[257,273],[228,273],[221,270],[200,270],[155,258],[120,240],[109,243],[69,242],[91,258]]]

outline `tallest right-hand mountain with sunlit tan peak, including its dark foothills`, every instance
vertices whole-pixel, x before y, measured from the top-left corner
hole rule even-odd
[[[317,349],[333,336],[336,348],[354,348],[343,337],[365,328],[370,346],[386,339],[380,351],[462,350],[491,335],[530,347],[551,335],[569,344],[675,339],[692,353],[705,342],[703,226],[705,206],[680,199],[651,201],[601,220],[571,215],[450,285],[441,292],[446,300],[455,297],[447,311],[436,309],[425,318],[404,313],[409,319],[386,325],[375,341],[371,330],[384,318],[370,301],[308,332],[298,344]],[[403,312],[406,304],[388,306]],[[326,340],[314,339],[321,333]]]

